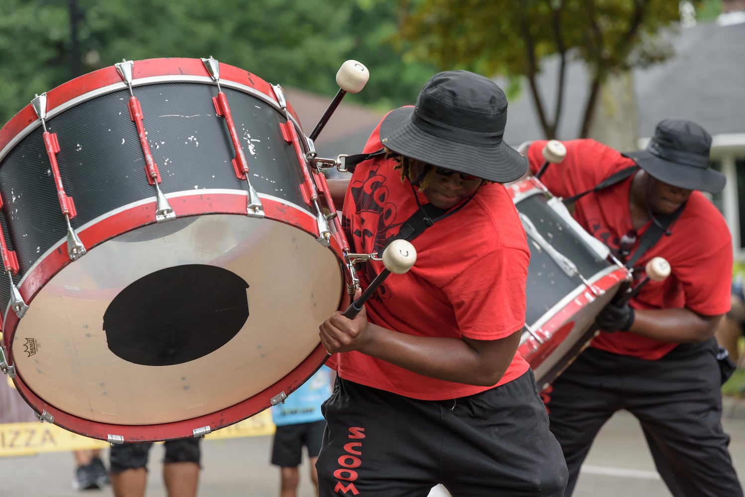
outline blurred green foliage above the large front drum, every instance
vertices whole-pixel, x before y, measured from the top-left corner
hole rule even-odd
[[[213,56],[329,96],[341,63],[355,59],[370,82],[354,100],[378,106],[413,103],[434,71],[391,45],[396,0],[0,0],[0,9],[0,126],[34,94],[122,59]]]

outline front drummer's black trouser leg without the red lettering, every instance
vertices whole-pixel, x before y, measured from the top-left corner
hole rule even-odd
[[[561,497],[567,469],[533,372],[440,402],[440,483],[453,497]]]

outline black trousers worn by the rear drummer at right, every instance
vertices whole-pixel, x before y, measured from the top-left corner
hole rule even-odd
[[[679,344],[656,361],[586,349],[554,381],[548,402],[569,469],[567,495],[600,427],[625,409],[639,420],[674,496],[742,496],[721,424],[716,356],[714,339]]]

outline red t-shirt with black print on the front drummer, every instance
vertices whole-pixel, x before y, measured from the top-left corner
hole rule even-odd
[[[364,152],[381,147],[376,128]],[[418,208],[410,182],[401,181],[394,165],[374,158],[358,164],[352,175],[343,226],[355,253],[379,252]],[[419,202],[427,202],[422,193],[417,195]],[[390,275],[367,301],[370,322],[414,336],[477,340],[501,339],[522,329],[530,253],[504,186],[483,185],[460,211],[438,220],[411,243],[416,263],[403,275]],[[362,288],[382,269],[378,261],[362,263]],[[327,364],[344,379],[421,400],[454,399],[492,388],[422,376],[358,352],[334,354]],[[497,385],[527,368],[516,353]]]

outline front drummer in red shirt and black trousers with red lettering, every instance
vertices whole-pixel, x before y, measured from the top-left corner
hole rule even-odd
[[[425,211],[431,225],[410,240],[409,272],[384,280],[355,319],[337,312],[320,327],[338,373],[322,407],[321,497],[427,496],[437,484],[455,497],[564,493],[561,448],[516,353],[530,254],[501,183],[527,160],[502,141],[506,121],[492,80],[436,74],[415,107],[373,131],[364,153],[383,155],[333,186],[346,186],[352,252],[381,253]],[[384,269],[358,266],[363,288]]]

